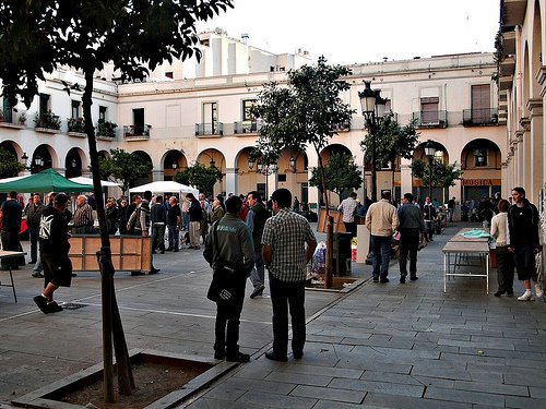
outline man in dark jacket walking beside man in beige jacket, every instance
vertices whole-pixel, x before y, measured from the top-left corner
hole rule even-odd
[[[417,277],[417,251],[419,250],[419,234],[425,233],[423,212],[413,204],[413,194],[405,193],[402,206],[399,207],[400,231],[400,282],[406,282],[407,256],[410,255],[410,279]]]

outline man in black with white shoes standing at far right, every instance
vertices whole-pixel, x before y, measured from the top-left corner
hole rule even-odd
[[[512,189],[513,206],[508,210],[508,229],[510,231],[509,251],[514,253],[518,279],[523,281],[525,292],[519,297],[520,301],[534,300],[531,292],[531,279],[535,281],[536,297],[543,297],[543,289],[537,282],[535,268],[535,253],[542,251],[538,238],[538,210],[525,199],[523,188]]]

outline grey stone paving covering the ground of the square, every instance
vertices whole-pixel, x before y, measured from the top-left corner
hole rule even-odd
[[[307,291],[301,360],[265,359],[268,291],[247,298],[240,344],[251,361],[181,407],[544,408],[546,305],[495,298],[495,269],[488,296],[484,278],[466,277],[443,293],[441,248],[460,227],[419,252],[417,281],[399,284],[393,262],[389,284],[367,280],[346,294]],[[161,274],[115,279],[128,347],[210,357],[215,305],[204,297],[211,272],[201,252],[154,257]],[[57,291],[59,301],[84,306],[45,315],[32,300],[43,282],[31,272],[14,273],[19,303],[0,288],[0,408],[102,360],[98,273],[79,273],[71,288]],[[354,275],[369,278],[370,266],[356,266]],[[519,281],[514,287],[523,291]]]

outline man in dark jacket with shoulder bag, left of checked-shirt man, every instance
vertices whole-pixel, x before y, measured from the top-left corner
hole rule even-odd
[[[248,362],[250,356],[239,351],[239,324],[242,303],[245,301],[245,286],[250,270],[254,266],[254,248],[252,237],[247,225],[239,218],[242,201],[239,196],[232,196],[226,201],[226,215],[215,221],[211,232],[206,236],[204,258],[209,262],[214,274],[219,273],[222,262],[238,266],[233,280],[234,298],[229,303],[217,302],[214,358],[230,362]],[[227,327],[227,328],[226,328]],[[227,333],[226,333],[227,329]]]

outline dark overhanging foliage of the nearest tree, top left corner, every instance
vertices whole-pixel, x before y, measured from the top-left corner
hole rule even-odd
[[[149,69],[154,70],[165,60],[173,62],[174,58],[193,55],[199,58],[195,22],[233,8],[232,2],[3,1],[3,92],[12,106],[21,96],[28,107],[38,92],[38,80],[61,65],[93,73],[112,61],[123,79],[142,79]]]

